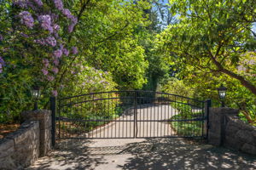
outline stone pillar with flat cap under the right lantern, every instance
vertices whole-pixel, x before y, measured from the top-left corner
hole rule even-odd
[[[219,146],[223,144],[225,138],[226,116],[238,115],[239,110],[227,107],[210,108],[208,143]]]

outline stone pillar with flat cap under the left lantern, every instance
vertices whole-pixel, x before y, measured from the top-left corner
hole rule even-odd
[[[40,156],[45,156],[51,149],[51,111],[37,110],[21,113],[24,121],[39,121],[40,128]]]

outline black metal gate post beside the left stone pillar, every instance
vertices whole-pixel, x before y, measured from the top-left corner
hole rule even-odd
[[[50,97],[50,111],[51,111],[51,144],[55,146],[55,113],[56,113],[56,98]]]

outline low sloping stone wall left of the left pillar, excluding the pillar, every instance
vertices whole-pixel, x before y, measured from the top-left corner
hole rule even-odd
[[[0,169],[23,169],[39,156],[39,122],[24,122],[0,140]]]

